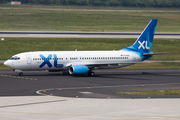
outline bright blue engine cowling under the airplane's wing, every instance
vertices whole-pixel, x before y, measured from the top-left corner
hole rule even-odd
[[[70,74],[87,74],[89,72],[89,68],[87,66],[84,66],[84,65],[72,65],[70,68],[69,68],[69,73]]]

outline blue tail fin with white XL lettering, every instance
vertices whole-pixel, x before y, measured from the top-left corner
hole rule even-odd
[[[136,42],[123,50],[135,51],[141,54],[151,53],[151,46],[153,43],[154,33],[156,30],[157,19],[152,19],[149,24],[146,26],[144,31],[141,33]]]

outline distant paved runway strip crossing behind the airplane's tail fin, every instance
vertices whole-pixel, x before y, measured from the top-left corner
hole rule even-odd
[[[138,38],[140,32],[51,32],[51,31],[0,31],[0,37],[49,38]],[[179,39],[180,33],[155,33],[154,38]]]

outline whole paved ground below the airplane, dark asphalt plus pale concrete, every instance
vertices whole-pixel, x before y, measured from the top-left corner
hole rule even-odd
[[[95,77],[0,70],[0,119],[179,120],[179,95],[119,91],[180,88],[180,70],[97,70]]]

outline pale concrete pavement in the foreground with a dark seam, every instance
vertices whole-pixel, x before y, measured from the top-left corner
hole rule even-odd
[[[0,97],[2,120],[179,120],[180,99]]]

